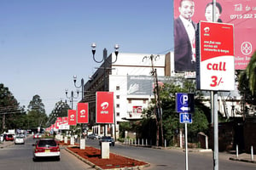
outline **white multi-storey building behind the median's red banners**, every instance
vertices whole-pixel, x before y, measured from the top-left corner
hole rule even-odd
[[[90,77],[90,81],[84,85],[83,101],[89,103],[90,124],[94,126],[94,133],[103,134],[101,126],[95,124],[96,91],[104,91],[105,89],[113,92],[114,125],[116,126],[108,125],[108,134],[113,135],[114,128],[116,132],[119,132],[119,122],[141,119],[141,112],[148,108],[150,100],[154,99],[154,77],[151,74],[154,69],[157,72],[159,82],[165,82],[166,77],[195,78],[195,72],[175,73],[172,60],[173,52],[168,54],[119,53],[117,59],[114,53],[110,54],[106,62],[102,63],[101,67]],[[236,113],[241,111],[238,95],[237,91],[219,95],[218,110],[224,116],[237,116]],[[206,105],[209,105],[209,97],[206,99]],[[232,107],[232,105],[235,106]],[[226,108],[226,113],[224,108]]]

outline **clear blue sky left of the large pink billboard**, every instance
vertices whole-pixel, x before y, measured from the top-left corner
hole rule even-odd
[[[120,53],[172,51],[173,0],[0,0],[0,83],[20,105],[38,94],[49,115],[76,90],[73,75],[87,82],[100,65],[92,42],[98,60],[115,43]]]

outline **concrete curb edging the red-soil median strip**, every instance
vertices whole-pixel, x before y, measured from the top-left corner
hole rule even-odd
[[[146,165],[136,166],[136,167],[117,167],[117,168],[110,168],[110,169],[102,169],[102,167],[96,166],[92,162],[84,159],[83,157],[79,156],[78,154],[74,153],[73,151],[68,150],[67,148],[65,148],[65,150],[67,150],[69,153],[73,154],[73,156],[78,157],[79,160],[84,161],[84,163],[87,163],[91,167],[96,168],[97,170],[135,170],[135,169],[139,169],[140,170],[140,169],[143,169],[143,167],[150,167],[150,164],[146,164]]]

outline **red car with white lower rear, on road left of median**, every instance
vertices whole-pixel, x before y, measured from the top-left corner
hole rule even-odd
[[[60,161],[61,150],[55,139],[38,139],[33,150],[33,160],[38,158],[55,158]]]

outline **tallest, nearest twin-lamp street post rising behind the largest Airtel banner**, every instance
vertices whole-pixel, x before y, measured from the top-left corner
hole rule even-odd
[[[108,64],[113,64],[117,61],[118,59],[118,54],[119,54],[119,45],[118,44],[115,44],[114,45],[114,54],[115,54],[115,59],[114,61],[108,61],[108,50],[106,48],[103,49],[103,57],[102,57],[102,60],[96,60],[96,57],[95,57],[95,54],[96,54],[96,42],[93,42],[91,44],[91,52],[92,52],[92,56],[93,56],[93,60],[96,61],[96,63],[102,63],[104,64],[104,91],[108,91],[108,87],[107,87],[107,62]],[[115,113],[113,113],[113,116],[114,116],[114,138],[116,139],[116,120],[115,120]],[[104,130],[104,135],[106,136],[107,134],[107,125],[105,125],[105,130]]]

